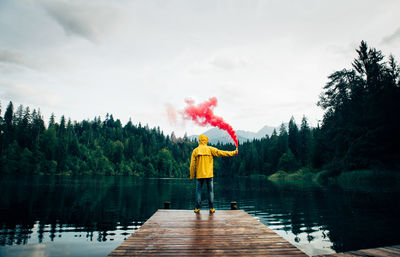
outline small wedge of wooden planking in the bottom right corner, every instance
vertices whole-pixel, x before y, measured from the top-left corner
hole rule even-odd
[[[334,253],[334,254],[326,254],[326,255],[318,255],[319,257],[328,257],[328,256],[341,256],[341,257],[350,257],[350,256],[376,256],[376,257],[392,257],[392,256],[400,256],[400,245],[379,247],[379,248],[371,248],[371,249],[363,249],[357,251],[350,251],[345,253]]]

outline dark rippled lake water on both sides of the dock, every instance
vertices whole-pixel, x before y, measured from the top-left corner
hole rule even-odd
[[[106,256],[164,201],[193,209],[188,179],[1,178],[0,256]],[[400,189],[218,179],[216,209],[241,209],[309,255],[400,244]],[[206,202],[204,202],[206,207]]]

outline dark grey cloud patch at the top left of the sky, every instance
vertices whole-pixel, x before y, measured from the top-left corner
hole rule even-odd
[[[42,0],[42,8],[68,36],[78,36],[99,43],[103,32],[116,19],[116,5],[96,2]]]

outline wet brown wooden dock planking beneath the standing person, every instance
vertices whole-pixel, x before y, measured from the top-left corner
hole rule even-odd
[[[307,256],[242,210],[158,210],[109,256]]]

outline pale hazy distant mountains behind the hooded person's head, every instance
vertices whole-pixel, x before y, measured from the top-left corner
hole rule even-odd
[[[260,139],[265,137],[266,135],[271,136],[272,132],[274,129],[278,130],[279,128],[277,127],[270,127],[270,126],[264,126],[262,127],[258,132],[252,132],[252,131],[245,131],[245,130],[237,130],[236,135],[240,143],[244,143],[247,141],[251,141],[253,139]],[[218,128],[211,128],[207,130],[206,132],[203,133],[204,135],[208,136],[210,139],[211,144],[229,144],[233,143],[233,140],[229,136],[229,134],[221,129]],[[198,135],[193,135],[189,137],[190,139],[196,139],[198,138]]]

